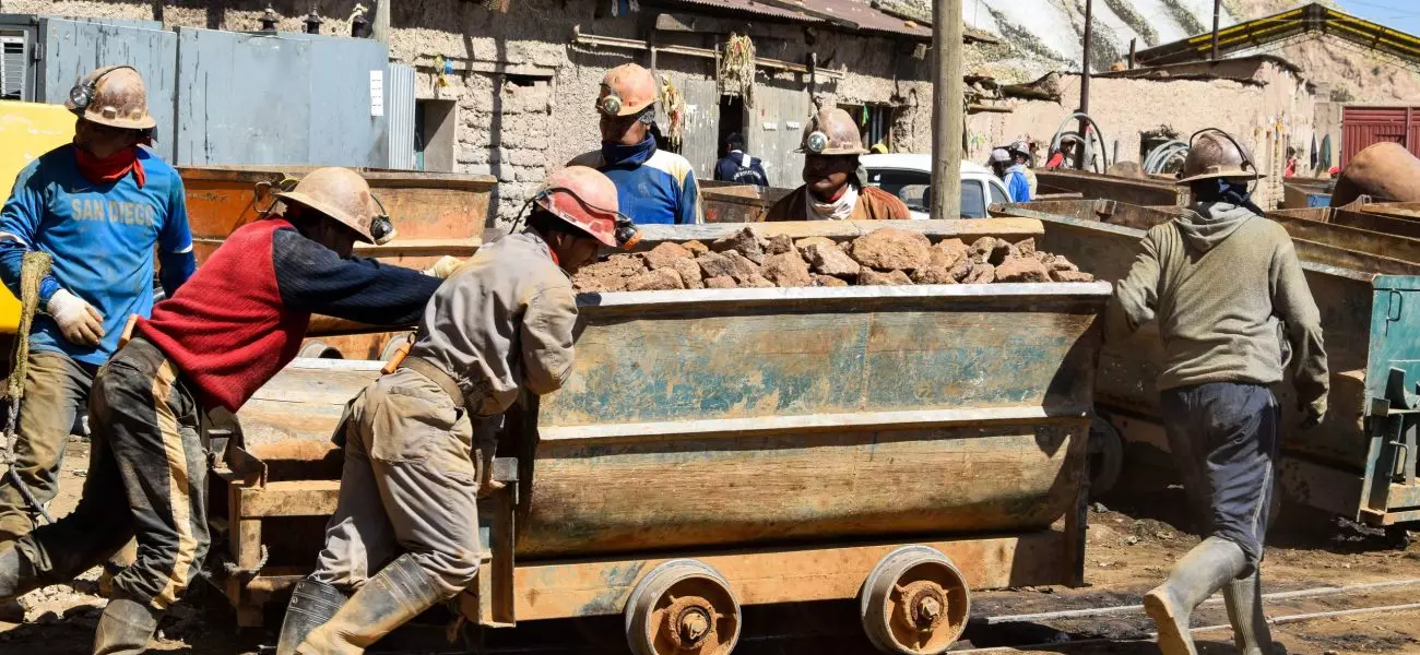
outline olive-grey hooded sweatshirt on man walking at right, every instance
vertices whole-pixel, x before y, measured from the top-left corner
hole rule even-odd
[[[1282,381],[1287,346],[1299,401],[1326,411],[1321,313],[1287,230],[1227,203],[1198,203],[1154,225],[1115,286],[1109,333],[1150,319],[1167,360],[1159,390],[1213,381]]]

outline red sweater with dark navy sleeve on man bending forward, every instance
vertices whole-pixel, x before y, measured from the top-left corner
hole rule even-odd
[[[267,218],[231,233],[136,330],[178,364],[203,405],[237,411],[295,359],[312,312],[409,325],[437,286],[408,268],[341,259]]]

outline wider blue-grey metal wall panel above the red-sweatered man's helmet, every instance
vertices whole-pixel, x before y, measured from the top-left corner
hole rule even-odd
[[[187,27],[178,43],[178,163],[389,166],[379,43]]]

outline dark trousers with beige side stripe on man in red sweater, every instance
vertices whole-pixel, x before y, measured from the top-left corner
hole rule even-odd
[[[207,554],[207,457],[197,414],[178,367],[148,340],[131,340],[94,380],[94,444],[78,506],[16,549],[43,578],[60,583],[136,537],[138,560],[114,577],[114,594],[168,608]]]

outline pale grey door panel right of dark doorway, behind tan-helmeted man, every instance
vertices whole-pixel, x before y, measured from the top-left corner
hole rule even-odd
[[[764,160],[770,186],[795,189],[802,184],[804,155],[795,150],[812,113],[808,92],[760,85],[754,89],[754,106],[747,106],[746,113],[746,147]]]

